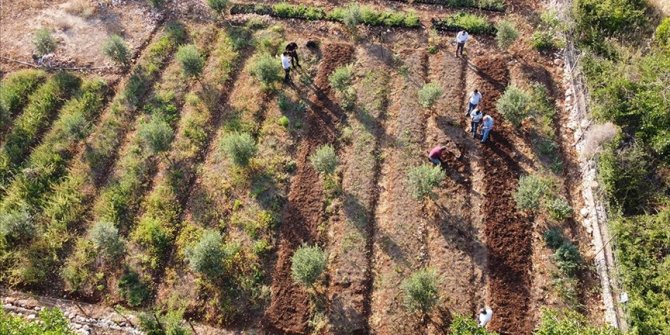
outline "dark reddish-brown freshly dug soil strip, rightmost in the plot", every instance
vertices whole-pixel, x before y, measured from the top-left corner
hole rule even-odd
[[[522,169],[511,145],[513,131],[495,110],[495,101],[509,82],[507,59],[476,57],[472,63],[468,78],[484,94],[483,110],[496,120],[491,141],[481,145],[489,299],[494,311],[489,327],[501,334],[530,334],[532,225],[515,209],[512,194]]]

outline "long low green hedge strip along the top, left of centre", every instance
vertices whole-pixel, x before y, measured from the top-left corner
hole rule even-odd
[[[399,12],[393,10],[379,11],[371,6],[352,4],[347,7],[336,7],[330,11],[323,8],[278,3],[274,5],[234,4],[230,13],[259,14],[280,17],[284,19],[301,20],[328,20],[345,23],[358,23],[371,26],[417,28],[421,25],[419,17],[414,12]]]

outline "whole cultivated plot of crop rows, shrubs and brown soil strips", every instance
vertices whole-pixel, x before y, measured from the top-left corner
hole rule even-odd
[[[485,306],[500,334],[533,333],[544,307],[601,323],[562,70],[530,46],[535,14],[112,3],[15,8],[155,27],[121,32],[134,56],[102,78],[1,63],[2,287],[187,331],[443,334]],[[72,29],[61,56],[81,47]],[[290,42],[301,66],[285,82]],[[495,120],[486,143],[465,116],[474,89]]]

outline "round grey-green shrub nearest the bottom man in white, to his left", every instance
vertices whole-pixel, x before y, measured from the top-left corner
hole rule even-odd
[[[434,269],[422,269],[412,273],[400,285],[405,295],[405,307],[410,311],[429,313],[440,301],[438,282]]]

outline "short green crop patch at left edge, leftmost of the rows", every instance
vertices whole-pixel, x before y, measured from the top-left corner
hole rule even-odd
[[[41,70],[19,70],[7,75],[0,83],[0,134],[9,126],[9,119],[18,114],[28,102],[28,96],[47,75]]]

